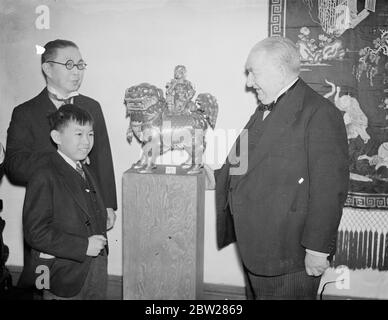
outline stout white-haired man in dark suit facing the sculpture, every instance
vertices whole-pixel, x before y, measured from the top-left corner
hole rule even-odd
[[[218,246],[237,241],[248,298],[315,299],[347,195],[342,115],[286,38],[256,44],[246,69],[260,105],[215,171]]]

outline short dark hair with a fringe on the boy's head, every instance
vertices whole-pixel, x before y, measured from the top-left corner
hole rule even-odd
[[[69,122],[73,121],[81,126],[85,124],[93,125],[94,123],[91,114],[75,104],[65,104],[57,111],[50,113],[47,118],[50,124],[50,131],[60,131],[66,127]]]

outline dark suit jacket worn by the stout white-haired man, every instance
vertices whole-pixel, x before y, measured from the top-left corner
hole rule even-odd
[[[229,168],[215,172],[219,248],[237,240],[245,267],[269,276],[303,270],[305,248],[335,252],[348,145],[329,100],[299,79],[249,130],[246,173]]]

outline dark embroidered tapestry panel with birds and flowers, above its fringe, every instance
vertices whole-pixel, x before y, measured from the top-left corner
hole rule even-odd
[[[269,34],[293,40],[301,77],[343,113],[345,206],[388,208],[388,1],[270,0]]]

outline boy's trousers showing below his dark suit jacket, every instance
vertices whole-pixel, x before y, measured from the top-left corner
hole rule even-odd
[[[59,297],[49,290],[43,291],[43,300],[105,300],[108,286],[107,255],[92,259],[81,291],[74,297]]]

